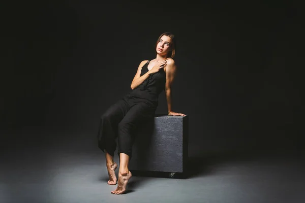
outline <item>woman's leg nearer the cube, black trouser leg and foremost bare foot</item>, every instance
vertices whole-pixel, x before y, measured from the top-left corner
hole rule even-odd
[[[128,180],[132,177],[128,164],[132,157],[132,145],[134,132],[142,122],[153,118],[155,109],[145,103],[139,103],[131,107],[125,117],[118,124],[118,151],[119,171],[117,188],[111,191],[113,194],[122,194],[126,191]]]

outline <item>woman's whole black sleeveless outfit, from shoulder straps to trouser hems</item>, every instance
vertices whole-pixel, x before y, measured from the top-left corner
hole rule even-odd
[[[149,60],[142,66],[141,76],[148,72],[148,64]],[[103,152],[105,149],[113,156],[118,137],[117,154],[125,153],[131,158],[134,130],[155,116],[158,97],[165,88],[165,82],[165,72],[161,68],[106,110],[101,116],[98,132],[98,146]]]

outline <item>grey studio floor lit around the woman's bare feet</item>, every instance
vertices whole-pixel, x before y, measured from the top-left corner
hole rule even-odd
[[[126,194],[113,195],[103,153],[91,141],[48,138],[39,146],[10,143],[1,159],[0,202],[305,202],[302,155],[194,155],[186,179],[134,176]]]

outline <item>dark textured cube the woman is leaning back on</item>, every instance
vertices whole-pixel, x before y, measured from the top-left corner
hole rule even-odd
[[[188,159],[187,116],[155,115],[136,131],[131,171],[184,173]]]

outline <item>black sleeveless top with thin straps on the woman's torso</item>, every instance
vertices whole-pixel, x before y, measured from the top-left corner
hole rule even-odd
[[[148,72],[149,62],[150,60],[142,66],[140,76],[143,76]],[[146,78],[142,84],[133,89],[128,96],[133,97],[138,101],[149,103],[157,108],[159,94],[165,89],[165,82],[166,74],[162,68],[157,73],[150,74],[148,78]]]

